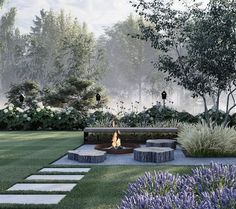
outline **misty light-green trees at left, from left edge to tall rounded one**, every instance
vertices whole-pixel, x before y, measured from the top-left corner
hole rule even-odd
[[[42,87],[65,78],[97,79],[104,67],[103,52],[86,24],[64,11],[41,10],[30,34],[14,31],[15,10],[0,20],[0,64],[2,85],[37,80]],[[4,60],[4,62],[3,62]]]

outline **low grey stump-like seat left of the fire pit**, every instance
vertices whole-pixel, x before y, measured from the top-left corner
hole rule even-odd
[[[75,160],[80,163],[101,163],[106,160],[106,152],[99,150],[72,150],[68,151],[68,159]]]

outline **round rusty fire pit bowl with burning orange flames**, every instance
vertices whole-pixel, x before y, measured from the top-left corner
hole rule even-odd
[[[112,126],[115,127],[115,121],[112,122]],[[128,154],[133,153],[133,150],[138,147],[138,144],[131,143],[121,145],[120,131],[117,130],[112,136],[112,144],[98,144],[95,149],[106,151],[108,154]]]

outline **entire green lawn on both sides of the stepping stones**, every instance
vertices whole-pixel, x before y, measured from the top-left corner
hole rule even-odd
[[[0,132],[0,192],[83,143],[82,132]],[[186,173],[191,167],[181,166],[91,166],[91,171],[78,182],[57,206],[9,206],[0,208],[83,209],[115,208],[127,189],[146,171],[165,170]]]

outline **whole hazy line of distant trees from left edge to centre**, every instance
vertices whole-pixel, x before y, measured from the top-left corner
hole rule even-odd
[[[141,102],[143,93],[157,96],[168,86],[164,74],[153,69],[158,51],[132,37],[140,32],[141,19],[129,16],[96,40],[85,23],[64,11],[41,10],[30,33],[24,35],[14,26],[15,15],[12,8],[0,20],[3,92],[30,80],[41,91],[54,91],[55,86],[76,78],[103,84],[113,96],[129,98],[136,92]]]

